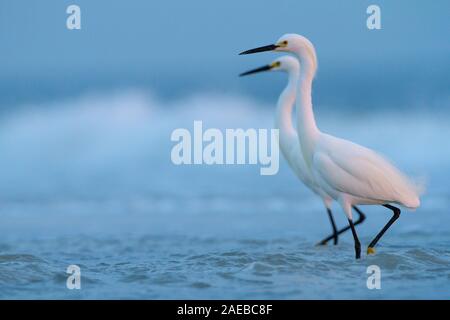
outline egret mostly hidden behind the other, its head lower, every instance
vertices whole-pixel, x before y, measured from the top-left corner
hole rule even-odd
[[[309,189],[320,196],[323,200],[323,203],[325,204],[333,234],[320,241],[319,244],[326,244],[331,239],[334,239],[334,244],[337,244],[338,235],[346,230],[349,230],[350,227],[346,227],[339,231],[337,230],[333,218],[333,213],[331,211],[331,203],[333,199],[314,183],[314,178],[305,163],[300,149],[300,142],[297,136],[297,131],[292,124],[292,111],[297,96],[297,85],[300,76],[300,63],[296,58],[292,56],[284,56],[276,59],[271,64],[244,72],[240,74],[240,76],[246,76],[263,71],[282,71],[288,74],[288,83],[281,93],[280,97],[278,98],[275,117],[275,127],[280,130],[280,149],[289,166],[295,172],[297,177]],[[365,216],[358,208],[355,207],[355,210],[359,214],[359,219],[355,222],[355,225],[357,225],[364,221]]]

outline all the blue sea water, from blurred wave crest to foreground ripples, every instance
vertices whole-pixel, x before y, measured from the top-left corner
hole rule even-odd
[[[199,93],[162,101],[143,90],[27,105],[0,117],[2,299],[448,299],[450,115],[417,102],[401,111],[316,106],[319,126],[382,152],[425,180],[377,253],[355,261],[350,234],[281,161],[175,166],[176,128],[271,128],[274,107]],[[273,102],[274,104],[274,102]],[[436,110],[436,109],[433,109]],[[363,248],[390,218],[362,207]],[[340,227],[346,219],[338,206]],[[81,268],[69,290],[66,269]],[[367,288],[367,267],[381,289]]]

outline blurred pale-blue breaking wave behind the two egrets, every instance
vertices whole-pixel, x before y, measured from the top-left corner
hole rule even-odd
[[[192,130],[194,120],[202,120],[204,130],[272,128],[274,105],[275,99],[271,106],[212,93],[167,102],[145,90],[125,90],[19,108],[0,118],[0,197],[279,192],[283,179],[260,177],[257,166],[170,161],[174,129]],[[439,180],[449,167],[448,116],[323,110],[316,107],[322,130],[384,153],[407,173]],[[282,168],[279,176],[290,172]],[[265,179],[270,183],[255,183]]]

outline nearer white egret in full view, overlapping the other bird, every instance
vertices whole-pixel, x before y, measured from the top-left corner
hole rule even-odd
[[[297,34],[286,34],[275,44],[241,52],[251,54],[264,51],[294,53],[300,60],[299,94],[297,99],[297,130],[306,165],[315,183],[344,210],[355,243],[355,256],[361,256],[361,244],[352,218],[352,206],[382,205],[393,216],[370,242],[367,254],[399,218],[398,204],[409,209],[420,206],[420,188],[394,165],[376,152],[353,142],[322,133],[314,118],[311,87],[317,70],[317,56],[313,44]]]

